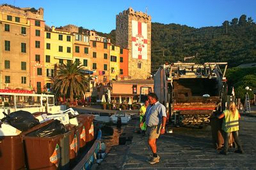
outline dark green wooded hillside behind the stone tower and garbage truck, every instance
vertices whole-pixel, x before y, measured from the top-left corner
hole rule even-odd
[[[111,38],[115,30],[99,35]],[[152,23],[152,71],[164,62],[228,62],[229,67],[256,62],[256,24],[241,15],[220,27]]]

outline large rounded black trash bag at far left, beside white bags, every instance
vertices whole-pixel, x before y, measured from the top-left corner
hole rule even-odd
[[[14,111],[6,116],[7,122],[20,131],[28,131],[31,127],[40,124],[31,113],[24,110]]]

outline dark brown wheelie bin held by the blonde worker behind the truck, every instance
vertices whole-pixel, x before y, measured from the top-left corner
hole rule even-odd
[[[218,118],[216,115],[210,118],[211,131],[212,131],[212,144],[214,148],[220,149],[224,145],[224,132],[221,130],[221,125],[223,122],[223,118]],[[228,141],[229,146],[234,145],[234,138],[232,134],[230,134],[230,138]]]

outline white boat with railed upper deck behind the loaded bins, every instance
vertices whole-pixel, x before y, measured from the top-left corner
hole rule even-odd
[[[0,92],[0,113],[14,111],[60,113],[61,106],[54,105],[54,95]],[[65,110],[65,108],[63,108]],[[0,114],[0,118],[4,115]]]

